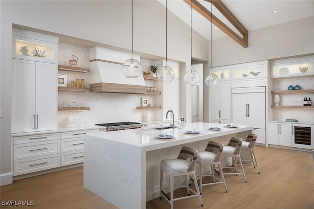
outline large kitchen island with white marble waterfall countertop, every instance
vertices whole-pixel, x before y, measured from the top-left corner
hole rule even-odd
[[[210,131],[217,126],[221,131]],[[184,134],[199,130],[198,135]],[[120,209],[145,209],[159,195],[160,160],[177,158],[181,147],[204,150],[209,140],[227,144],[232,136],[246,139],[253,126],[225,128],[224,124],[189,123],[185,128],[133,129],[84,136],[84,187]],[[174,140],[154,139],[160,132]],[[168,184],[164,178],[163,184]],[[182,180],[177,179],[180,184]]]

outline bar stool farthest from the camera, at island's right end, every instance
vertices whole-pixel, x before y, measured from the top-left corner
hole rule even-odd
[[[243,164],[243,162],[251,162],[251,164],[243,164],[243,166],[250,165],[250,166],[254,166],[254,168],[257,167],[257,170],[260,174],[261,173],[260,167],[259,167],[259,164],[257,163],[257,158],[256,158],[255,151],[254,151],[256,139],[257,139],[257,135],[250,133],[247,136],[247,138],[245,139],[245,141],[242,142],[241,152],[243,152],[244,150],[247,150],[250,152],[250,155],[251,155],[251,160],[243,160],[242,159],[242,164]]]

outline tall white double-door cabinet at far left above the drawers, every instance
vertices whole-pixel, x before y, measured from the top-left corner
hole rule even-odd
[[[57,65],[12,59],[12,133],[57,129]]]

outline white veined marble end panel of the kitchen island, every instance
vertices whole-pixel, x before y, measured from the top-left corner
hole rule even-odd
[[[140,147],[85,135],[84,187],[120,209],[145,208],[142,155]]]

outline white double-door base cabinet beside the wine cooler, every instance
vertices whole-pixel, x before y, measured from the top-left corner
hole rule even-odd
[[[291,124],[268,122],[268,144],[291,146]]]

